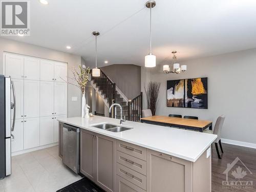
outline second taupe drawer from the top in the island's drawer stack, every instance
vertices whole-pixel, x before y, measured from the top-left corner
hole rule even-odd
[[[140,174],[146,175],[146,162],[141,159],[117,151],[116,162],[129,167]]]

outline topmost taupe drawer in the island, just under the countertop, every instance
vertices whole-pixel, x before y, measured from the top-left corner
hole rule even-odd
[[[146,160],[146,148],[117,140],[116,149],[120,152]]]

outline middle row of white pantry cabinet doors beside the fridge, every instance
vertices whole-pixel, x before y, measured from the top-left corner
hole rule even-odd
[[[67,114],[66,82],[12,81],[16,93],[16,119]]]

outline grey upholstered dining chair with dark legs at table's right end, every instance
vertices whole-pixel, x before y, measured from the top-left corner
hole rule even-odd
[[[216,147],[216,151],[217,151],[217,155],[218,155],[219,159],[221,159],[221,156],[220,156],[220,152],[219,152],[219,148],[218,148],[218,143],[220,144],[221,153],[224,153],[222,144],[221,144],[221,131],[222,131],[224,120],[225,120],[225,115],[219,116],[216,120],[216,123],[214,126],[214,131],[211,131],[211,130],[204,131],[205,133],[211,133],[211,134],[215,134],[218,136],[217,139],[214,141],[214,143],[215,143],[215,147]]]

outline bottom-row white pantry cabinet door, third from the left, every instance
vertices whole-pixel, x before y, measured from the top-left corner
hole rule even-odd
[[[40,117],[40,146],[54,142],[54,117]]]

